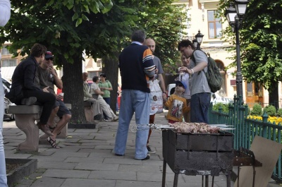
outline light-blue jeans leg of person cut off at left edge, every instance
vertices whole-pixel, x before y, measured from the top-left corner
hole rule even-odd
[[[1,73],[0,73],[1,78]],[[0,84],[0,186],[8,187],[7,176],[6,176],[6,164],[5,164],[5,153],[3,143],[3,117],[4,117],[4,88],[1,82]]]

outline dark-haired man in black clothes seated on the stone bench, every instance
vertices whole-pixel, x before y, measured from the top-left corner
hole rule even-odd
[[[34,44],[30,50],[30,56],[20,62],[16,66],[13,72],[11,90],[6,94],[6,97],[15,104],[33,104],[39,102],[42,104],[42,114],[40,121],[37,123],[39,129],[48,135],[54,135],[51,133],[49,126],[47,125],[49,116],[52,111],[52,107],[56,101],[56,97],[48,92],[43,92],[37,85],[35,85],[35,76],[37,72],[38,64],[41,64],[44,60],[46,47],[42,44]],[[27,103],[23,103],[25,99],[31,98]],[[21,101],[23,99],[23,101]]]

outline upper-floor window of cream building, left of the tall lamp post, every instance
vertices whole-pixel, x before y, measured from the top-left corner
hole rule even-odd
[[[209,38],[220,38],[222,25],[221,18],[216,18],[217,11],[207,11],[207,20],[209,24]]]

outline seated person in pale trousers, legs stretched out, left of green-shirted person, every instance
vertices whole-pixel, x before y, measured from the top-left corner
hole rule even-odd
[[[98,83],[99,83],[98,76],[94,76],[92,80],[93,80],[93,83],[90,88],[90,94],[94,95],[94,97],[97,97],[97,101],[99,102],[102,111],[104,111],[104,113],[109,118],[109,120],[117,121],[118,116],[114,114],[114,111],[111,109],[110,105],[107,104],[106,101],[101,96],[101,95],[104,95],[104,92],[102,92],[98,86]]]

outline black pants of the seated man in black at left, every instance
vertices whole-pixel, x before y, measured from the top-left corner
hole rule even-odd
[[[43,105],[42,114],[40,116],[40,122],[47,124],[49,116],[56,101],[55,95],[49,92],[43,92],[42,90],[23,90],[24,97],[36,97],[37,102]]]

